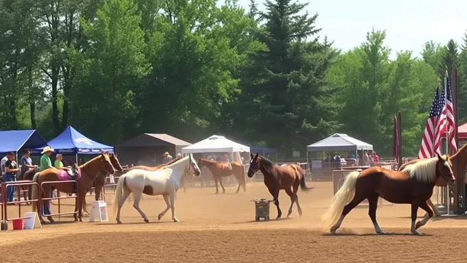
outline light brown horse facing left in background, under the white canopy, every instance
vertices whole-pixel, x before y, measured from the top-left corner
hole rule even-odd
[[[229,167],[230,164],[230,167]],[[198,167],[203,168],[207,167],[214,177],[214,182],[216,183],[216,194],[219,192],[217,186],[218,182],[220,187],[222,187],[222,193],[225,193],[224,184],[222,182],[222,177],[228,177],[234,175],[238,180],[238,187],[236,193],[240,191],[240,186],[243,188],[243,192],[247,190],[247,181],[245,179],[245,168],[240,162],[216,162],[207,159],[198,159]]]

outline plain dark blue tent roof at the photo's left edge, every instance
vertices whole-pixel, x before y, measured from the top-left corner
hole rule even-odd
[[[35,129],[0,132],[0,153],[19,151],[22,148],[42,148],[47,146],[44,138]]]

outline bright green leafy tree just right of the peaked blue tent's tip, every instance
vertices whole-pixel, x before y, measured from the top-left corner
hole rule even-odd
[[[104,142],[122,140],[135,126],[133,90],[148,73],[140,21],[132,0],[106,0],[95,21],[81,21],[92,44],[70,58],[77,71],[71,122]]]

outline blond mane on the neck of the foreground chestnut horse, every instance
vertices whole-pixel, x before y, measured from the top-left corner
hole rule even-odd
[[[446,159],[446,155],[442,155],[443,160]],[[433,157],[429,159],[422,160],[420,162],[415,162],[415,164],[407,165],[402,172],[408,173],[410,178],[415,178],[417,181],[422,183],[432,183],[436,181],[436,164],[438,158]]]

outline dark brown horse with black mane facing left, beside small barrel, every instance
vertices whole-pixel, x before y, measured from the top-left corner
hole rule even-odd
[[[308,192],[312,187],[306,187],[304,171],[297,164],[286,164],[279,166],[271,162],[264,156],[251,154],[250,168],[248,169],[248,177],[260,170],[264,175],[264,184],[273,195],[274,204],[277,206],[277,219],[282,216],[282,211],[279,208],[279,191],[284,189],[289,197],[291,197],[291,207],[288,208],[287,217],[292,214],[293,203],[297,203],[297,210],[301,216],[300,203],[298,201],[298,187],[301,190]]]

